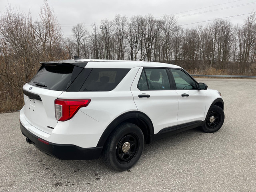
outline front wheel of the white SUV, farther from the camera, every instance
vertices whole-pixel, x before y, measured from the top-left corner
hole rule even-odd
[[[222,108],[214,105],[208,112],[202,130],[206,133],[216,132],[222,127],[224,119],[225,114]]]

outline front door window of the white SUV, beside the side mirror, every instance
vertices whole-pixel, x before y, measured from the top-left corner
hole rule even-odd
[[[176,88],[178,90],[182,89],[198,89],[196,82],[188,76],[184,71],[179,69],[171,69],[172,75],[175,80]]]

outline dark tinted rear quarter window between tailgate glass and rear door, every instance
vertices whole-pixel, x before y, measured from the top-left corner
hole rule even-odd
[[[130,69],[93,68],[80,91],[111,91]]]

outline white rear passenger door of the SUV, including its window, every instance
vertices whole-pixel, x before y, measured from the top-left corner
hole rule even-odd
[[[145,113],[151,119],[156,134],[163,128],[178,124],[178,94],[175,90],[170,90],[165,69],[150,70],[144,71],[142,67],[140,68],[132,83],[131,91],[138,111]]]

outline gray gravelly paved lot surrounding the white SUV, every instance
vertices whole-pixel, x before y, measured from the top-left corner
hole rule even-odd
[[[26,142],[19,112],[0,114],[0,191],[256,191],[256,80],[198,81],[222,93],[222,128],[214,134],[193,129],[146,145],[125,172],[102,159],[52,158]]]

